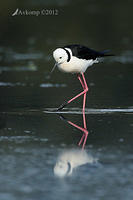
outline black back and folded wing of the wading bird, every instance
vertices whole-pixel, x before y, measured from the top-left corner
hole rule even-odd
[[[78,44],[72,44],[72,45],[66,45],[64,48],[69,48],[72,51],[72,55],[81,58],[81,59],[93,59],[95,60],[98,57],[103,57],[103,56],[110,56],[107,54],[104,54],[103,52],[98,52],[93,49],[89,49],[88,47],[78,45]]]

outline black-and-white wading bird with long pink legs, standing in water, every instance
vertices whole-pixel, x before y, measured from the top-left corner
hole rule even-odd
[[[51,73],[56,67],[58,67],[58,69],[62,72],[76,74],[83,88],[83,91],[77,94],[75,97],[70,100],[65,100],[64,103],[58,107],[57,111],[62,110],[67,104],[83,95],[82,111],[85,112],[88,85],[84,73],[88,67],[99,62],[98,58],[105,56],[113,55],[108,54],[108,50],[96,51],[80,44],[70,44],[63,47],[58,47],[53,51],[55,65],[51,70]]]

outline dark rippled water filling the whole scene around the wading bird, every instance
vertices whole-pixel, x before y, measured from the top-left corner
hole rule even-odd
[[[133,3],[31,0],[6,6],[1,3],[0,199],[133,199]],[[55,8],[59,14],[12,17],[16,8]],[[116,55],[85,73],[83,156],[83,131],[72,125],[83,128],[82,98],[53,112],[81,91],[75,75],[57,69],[49,75],[52,51],[70,43]]]

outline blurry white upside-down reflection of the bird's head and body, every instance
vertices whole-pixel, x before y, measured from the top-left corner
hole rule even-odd
[[[89,156],[83,150],[66,150],[57,159],[54,167],[54,174],[59,177],[69,176],[72,174],[73,169],[87,163],[96,163],[97,159]]]

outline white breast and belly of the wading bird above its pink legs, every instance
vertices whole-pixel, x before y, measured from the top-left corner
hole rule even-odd
[[[86,69],[93,65],[93,63],[97,63],[97,60],[85,60],[85,59],[79,59],[75,56],[72,56],[71,60],[69,62],[64,62],[62,64],[58,65],[59,70],[63,72],[70,72],[70,73],[81,73],[85,72]]]

